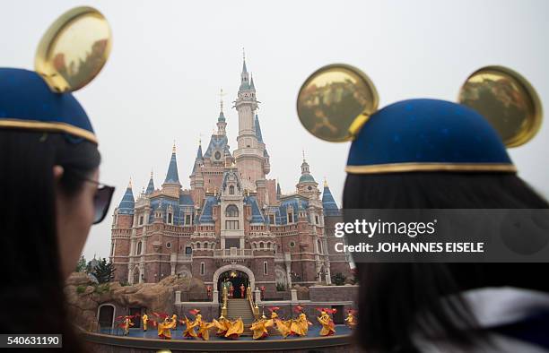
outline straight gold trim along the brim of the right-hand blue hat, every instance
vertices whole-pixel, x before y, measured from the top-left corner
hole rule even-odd
[[[347,166],[350,174],[402,173],[402,172],[502,172],[516,173],[510,163],[389,163],[371,166]]]

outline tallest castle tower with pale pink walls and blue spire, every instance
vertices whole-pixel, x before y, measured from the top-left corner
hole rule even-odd
[[[259,102],[256,87],[246,68],[246,59],[240,74],[239,94],[234,103],[234,108],[239,114],[238,148],[234,151],[234,158],[240,171],[242,185],[245,189],[255,192],[265,187],[266,174],[271,167],[257,117]]]

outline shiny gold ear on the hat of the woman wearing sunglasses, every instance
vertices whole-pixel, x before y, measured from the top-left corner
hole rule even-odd
[[[63,13],[44,33],[35,70],[55,92],[83,88],[100,73],[112,44],[109,22],[96,9],[82,6]]]

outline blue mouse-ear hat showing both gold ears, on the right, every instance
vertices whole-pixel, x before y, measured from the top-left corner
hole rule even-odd
[[[516,172],[506,145],[526,143],[539,130],[536,90],[508,68],[487,66],[466,79],[458,100],[409,99],[378,110],[365,73],[327,65],[303,83],[297,110],[309,133],[352,141],[347,173]]]

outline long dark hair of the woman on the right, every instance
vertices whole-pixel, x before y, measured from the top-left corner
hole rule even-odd
[[[349,174],[343,205],[344,209],[549,207],[514,174],[444,172]],[[528,276],[546,273],[548,267],[546,263],[357,263],[356,339],[369,352],[413,352],[413,332],[471,347],[475,340],[486,338],[483,331],[475,330],[475,315],[459,296],[453,296],[457,300],[450,306],[443,306],[440,298],[494,286],[549,291],[549,282]],[[429,320],[418,320],[420,313]]]

